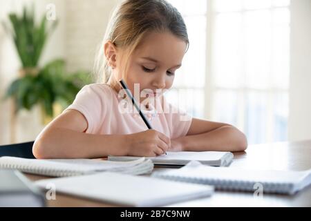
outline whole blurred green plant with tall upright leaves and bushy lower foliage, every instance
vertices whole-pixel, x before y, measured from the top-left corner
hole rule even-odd
[[[8,87],[6,98],[14,99],[15,114],[23,108],[30,110],[39,104],[46,124],[55,117],[55,106],[66,108],[82,86],[91,83],[91,79],[86,71],[66,73],[62,59],[50,61],[43,67],[38,66],[46,41],[55,30],[57,21],[47,23],[43,16],[37,24],[33,8],[29,10],[24,7],[22,15],[11,13],[9,22],[2,23],[4,30],[12,37],[21,60],[19,77]]]

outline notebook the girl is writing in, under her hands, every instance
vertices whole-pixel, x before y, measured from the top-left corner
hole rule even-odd
[[[196,160],[202,164],[209,166],[229,166],[232,162],[234,155],[230,152],[220,151],[179,151],[179,152],[167,152],[167,155],[160,155],[157,157],[146,157],[152,160],[156,166],[185,166],[191,160]],[[108,160],[134,160],[139,157],[131,156],[108,156]]]

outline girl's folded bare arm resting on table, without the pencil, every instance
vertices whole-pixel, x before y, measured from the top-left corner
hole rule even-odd
[[[185,137],[171,140],[172,151],[245,151],[247,139],[234,126],[192,119]]]

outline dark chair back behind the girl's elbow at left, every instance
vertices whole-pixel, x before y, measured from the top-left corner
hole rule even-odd
[[[32,141],[19,144],[0,145],[0,157],[10,156],[35,159],[35,156],[32,154],[33,143],[34,142]]]

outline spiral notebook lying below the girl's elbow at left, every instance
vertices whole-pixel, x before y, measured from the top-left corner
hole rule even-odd
[[[37,160],[20,157],[0,157],[0,169],[17,169],[26,173],[53,177],[83,175],[103,171],[138,175],[151,173],[153,163],[144,157],[126,162],[90,159]]]

